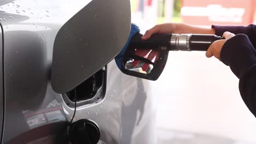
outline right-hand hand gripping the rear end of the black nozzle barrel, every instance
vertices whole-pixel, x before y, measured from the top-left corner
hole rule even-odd
[[[226,42],[228,39],[230,39],[230,38],[232,38],[232,37],[234,37],[234,36],[235,36],[234,33],[224,32],[224,33],[223,33],[223,37],[224,37],[225,39],[214,41],[214,42],[210,45],[210,47],[208,48],[208,50],[206,51],[206,53],[205,53],[206,57],[210,58],[210,57],[214,56],[214,57],[218,58],[219,61],[220,61],[220,52],[222,51],[223,45],[225,44],[225,42]]]

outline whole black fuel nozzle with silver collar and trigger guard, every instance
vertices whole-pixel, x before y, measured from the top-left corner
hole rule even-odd
[[[165,68],[169,51],[207,51],[208,47],[216,40],[224,39],[211,34],[155,34],[148,40],[141,39],[142,34],[133,35],[127,47],[121,71],[127,75],[148,80],[157,80]],[[156,62],[135,55],[137,49],[159,50],[159,59]],[[131,67],[135,60],[141,61],[137,67]],[[139,70],[143,63],[150,64],[147,71]]]

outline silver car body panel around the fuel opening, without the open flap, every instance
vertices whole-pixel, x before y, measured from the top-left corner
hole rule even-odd
[[[74,108],[51,87],[54,39],[61,26],[90,2],[0,2],[2,143],[68,143],[67,125]],[[99,143],[156,143],[155,101],[148,88],[146,80],[122,74],[111,61],[104,99],[77,107],[74,121],[96,122],[101,130]]]

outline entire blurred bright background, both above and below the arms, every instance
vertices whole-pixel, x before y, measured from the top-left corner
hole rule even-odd
[[[256,23],[256,0],[131,0],[132,22],[144,33],[158,23]],[[256,143],[256,119],[229,67],[205,52],[170,52],[158,81],[158,143]]]

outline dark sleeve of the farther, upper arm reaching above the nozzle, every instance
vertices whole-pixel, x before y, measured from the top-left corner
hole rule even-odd
[[[249,37],[249,40],[256,47],[256,25],[248,25],[248,26],[217,26],[212,25],[212,28],[215,29],[216,35],[223,35],[224,32],[228,31],[234,34],[243,33]]]

